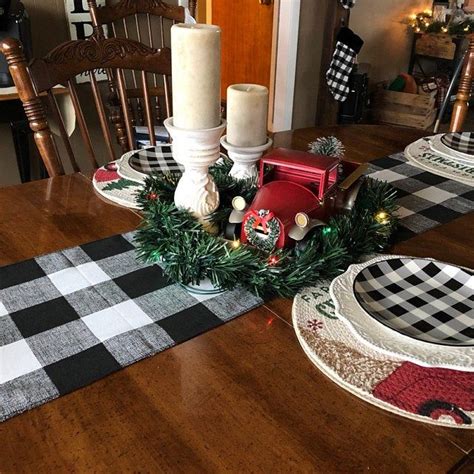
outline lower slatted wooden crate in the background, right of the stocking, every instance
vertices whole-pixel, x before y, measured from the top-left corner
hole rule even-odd
[[[372,116],[378,122],[411,128],[429,128],[436,120],[434,95],[381,90],[374,98]]]

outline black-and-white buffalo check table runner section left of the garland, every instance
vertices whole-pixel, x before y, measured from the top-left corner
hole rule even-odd
[[[132,242],[115,236],[0,268],[0,421],[262,303],[244,290],[193,296],[138,263]]]

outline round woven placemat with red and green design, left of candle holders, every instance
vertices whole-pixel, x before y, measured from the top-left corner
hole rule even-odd
[[[100,167],[94,173],[92,184],[96,192],[106,200],[130,209],[139,209],[136,196],[143,185],[119,176],[116,162]]]

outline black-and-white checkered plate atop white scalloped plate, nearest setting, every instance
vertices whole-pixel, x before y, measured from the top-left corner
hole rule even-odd
[[[421,341],[474,346],[474,274],[442,262],[394,258],[362,270],[354,282],[362,308]]]

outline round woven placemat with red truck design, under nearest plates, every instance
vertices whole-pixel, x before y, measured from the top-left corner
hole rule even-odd
[[[363,343],[336,316],[329,285],[303,290],[292,311],[298,340],[321,372],[383,410],[438,426],[474,428],[474,373],[421,367]]]

